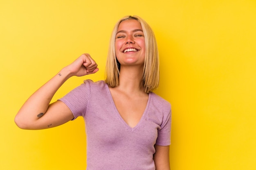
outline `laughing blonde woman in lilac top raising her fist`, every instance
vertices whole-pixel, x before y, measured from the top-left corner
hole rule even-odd
[[[88,170],[169,170],[171,106],[152,91],[159,83],[158,51],[150,26],[137,16],[115,25],[106,80],[86,80],[49,104],[71,76],[98,71],[90,54],[64,67],[18,111],[22,129],[47,129],[83,116]]]

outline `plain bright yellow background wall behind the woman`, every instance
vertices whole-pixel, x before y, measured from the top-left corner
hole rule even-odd
[[[104,78],[110,33],[124,15],[155,31],[160,53],[156,93],[173,109],[172,170],[256,170],[255,0],[1,0],[0,169],[84,170],[82,118],[26,131],[14,124],[25,100],[82,53]]]

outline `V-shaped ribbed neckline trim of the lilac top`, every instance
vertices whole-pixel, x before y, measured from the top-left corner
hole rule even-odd
[[[119,113],[119,111],[117,110],[117,106],[115,105],[115,102],[114,102],[114,99],[112,97],[112,94],[110,92],[110,89],[108,87],[108,84],[105,83],[105,87],[106,87],[106,90],[108,92],[108,96],[110,98],[110,101],[111,101],[111,104],[112,104],[112,107],[115,109],[115,114],[117,115],[117,117],[119,118],[119,120],[124,124],[124,126],[126,126],[127,129],[131,130],[131,131],[134,131],[135,129],[137,129],[141,123],[145,120],[145,116],[146,116],[146,113],[148,112],[148,107],[149,107],[149,103],[150,103],[150,99],[151,99],[151,92],[148,94],[148,102],[147,102],[147,105],[146,105],[146,108],[139,120],[139,122],[134,126],[134,127],[131,127],[130,125],[128,125],[126,123],[126,121],[124,121],[124,119],[122,118],[121,114]]]

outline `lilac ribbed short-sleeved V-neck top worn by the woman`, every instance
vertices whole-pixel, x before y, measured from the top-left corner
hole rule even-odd
[[[153,92],[133,128],[120,116],[104,81],[86,80],[60,100],[85,120],[87,170],[155,170],[154,145],[170,145],[171,105]]]

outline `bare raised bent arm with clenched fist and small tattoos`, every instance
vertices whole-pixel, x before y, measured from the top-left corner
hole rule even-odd
[[[72,120],[74,116],[63,102],[49,103],[68,78],[93,74],[99,70],[97,66],[90,54],[83,54],[63,68],[23,104],[14,120],[17,126],[21,129],[47,129]]]

